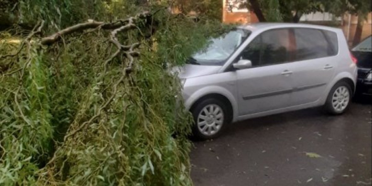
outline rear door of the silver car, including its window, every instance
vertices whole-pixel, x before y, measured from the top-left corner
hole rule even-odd
[[[296,51],[293,68],[294,92],[291,105],[316,102],[335,74],[337,35],[331,31],[294,28]]]

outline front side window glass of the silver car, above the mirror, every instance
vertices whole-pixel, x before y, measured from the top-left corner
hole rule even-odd
[[[289,33],[289,29],[273,29],[261,33],[248,44],[240,58],[250,60],[253,67],[289,61]]]

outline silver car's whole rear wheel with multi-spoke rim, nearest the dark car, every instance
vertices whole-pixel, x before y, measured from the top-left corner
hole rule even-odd
[[[328,94],[324,109],[332,115],[340,115],[350,105],[351,97],[352,91],[348,83],[336,83]]]

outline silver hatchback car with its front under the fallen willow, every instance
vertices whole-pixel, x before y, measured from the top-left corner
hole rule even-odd
[[[287,23],[240,26],[177,67],[193,135],[215,138],[231,122],[324,106],[343,113],[356,59],[341,29]]]

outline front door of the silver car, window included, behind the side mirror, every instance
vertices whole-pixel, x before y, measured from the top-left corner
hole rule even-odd
[[[239,116],[285,108],[292,92],[289,29],[256,36],[238,56],[252,67],[236,70]]]

